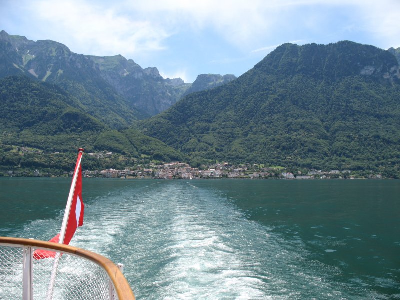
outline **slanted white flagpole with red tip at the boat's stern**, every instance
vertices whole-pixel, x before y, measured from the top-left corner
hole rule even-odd
[[[61,232],[59,234],[58,243],[60,243],[60,244],[64,243],[66,227],[68,225],[69,213],[70,213],[70,210],[71,210],[73,194],[75,192],[75,186],[76,186],[76,181],[77,181],[77,178],[78,178],[78,172],[79,172],[79,169],[80,169],[80,162],[82,160],[83,152],[84,152],[84,149],[79,148],[79,150],[78,150],[78,159],[76,161],[75,171],[73,173],[73,178],[72,178],[72,184],[71,184],[71,188],[69,190],[68,201],[66,202],[64,219],[62,220]],[[51,270],[50,282],[48,283],[46,300],[51,300],[52,297],[53,297],[55,276],[57,274],[57,268],[58,268],[58,263],[59,263],[60,256],[61,256],[60,252],[56,252],[55,253],[53,268]]]

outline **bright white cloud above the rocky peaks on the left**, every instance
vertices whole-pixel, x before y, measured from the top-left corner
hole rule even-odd
[[[31,5],[35,17],[48,23],[50,34],[59,35],[70,47],[79,46],[85,54],[133,56],[159,51],[169,36],[150,21],[132,19],[95,3],[41,0]]]

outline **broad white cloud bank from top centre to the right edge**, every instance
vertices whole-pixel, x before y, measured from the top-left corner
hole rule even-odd
[[[376,37],[393,40],[400,30],[397,24],[399,0],[146,0],[123,3],[162,24],[170,34],[188,28],[193,31],[209,29],[245,51],[259,40],[276,40],[279,34],[297,29],[293,26],[303,31],[325,29],[329,24],[321,26],[326,22],[324,15],[320,15],[321,8],[327,14],[334,13],[334,9],[349,11],[354,23],[361,21],[353,29],[367,30]]]

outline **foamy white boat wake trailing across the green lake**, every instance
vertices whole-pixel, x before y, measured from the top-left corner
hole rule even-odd
[[[89,199],[71,244],[123,263],[137,298],[346,298],[329,280],[338,270],[307,260],[300,240],[190,182],[132,182]]]

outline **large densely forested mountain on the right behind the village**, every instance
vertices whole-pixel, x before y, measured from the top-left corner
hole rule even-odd
[[[387,51],[284,44],[141,126],[193,160],[398,170],[399,94],[398,62]]]

